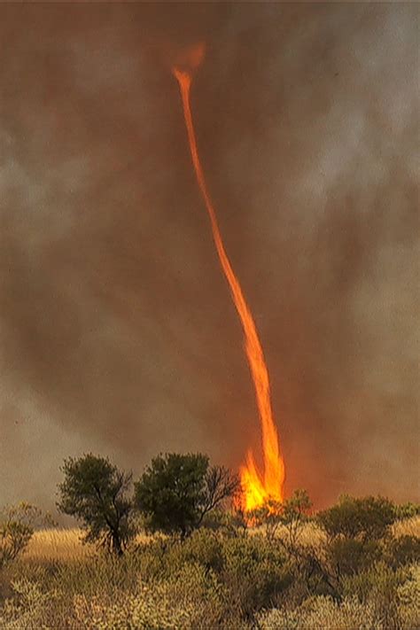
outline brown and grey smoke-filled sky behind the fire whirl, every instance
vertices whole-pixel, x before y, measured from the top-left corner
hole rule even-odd
[[[286,486],[418,496],[418,5],[2,4],[0,502],[260,430],[171,56],[271,377]]]

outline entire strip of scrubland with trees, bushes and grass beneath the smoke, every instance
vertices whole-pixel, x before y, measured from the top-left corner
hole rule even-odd
[[[183,486],[185,463],[189,483]],[[64,470],[68,473],[68,466]],[[209,491],[215,470],[229,487],[222,486],[223,500],[211,507],[209,496],[222,496],[214,495],[211,484]],[[155,461],[142,478],[145,486],[142,479],[136,482],[133,513],[122,528],[129,535],[121,548],[102,532],[97,514],[89,512],[93,495],[85,477],[79,487],[85,493],[79,497],[86,517],[79,516],[81,529],[46,529],[42,523],[43,529],[36,529],[38,512],[35,522],[28,508],[20,513],[16,508],[12,516],[6,511],[0,525],[0,627],[420,627],[418,506],[345,496],[316,512],[307,494],[298,491],[282,506],[268,502],[256,510],[246,526],[244,515],[229,504],[235,479],[225,469],[222,473],[199,458]],[[118,496],[121,506],[131,505],[127,477],[120,477],[122,494],[111,483],[116,478],[108,477],[113,488],[109,506],[103,501],[106,484],[97,486],[108,520],[107,508],[118,506]],[[62,493],[62,505],[65,498]],[[185,500],[187,525],[178,511]],[[109,522],[112,531],[115,524]],[[11,556],[16,532],[21,544]]]

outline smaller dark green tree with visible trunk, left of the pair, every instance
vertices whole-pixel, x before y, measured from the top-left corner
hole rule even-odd
[[[127,493],[131,474],[119,471],[104,457],[69,457],[61,469],[58,509],[82,521],[85,542],[96,542],[121,556],[135,529]]]

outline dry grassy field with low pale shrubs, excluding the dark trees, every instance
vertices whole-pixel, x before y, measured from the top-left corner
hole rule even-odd
[[[420,517],[393,525],[377,547],[368,545],[356,570],[346,569],[343,556],[342,576],[334,568],[341,556],[331,556],[331,543],[311,523],[290,552],[282,529],[274,540],[263,529],[235,535],[203,529],[183,542],[142,535],[122,558],[83,545],[81,534],[38,531],[25,554],[0,572],[2,630],[420,627],[419,565],[398,543],[420,535]],[[350,560],[356,552],[350,549]]]

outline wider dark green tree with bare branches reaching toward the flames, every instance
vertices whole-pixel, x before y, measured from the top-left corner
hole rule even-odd
[[[136,482],[135,503],[147,529],[184,538],[238,486],[236,475],[210,467],[206,455],[167,453],[155,457]]]

